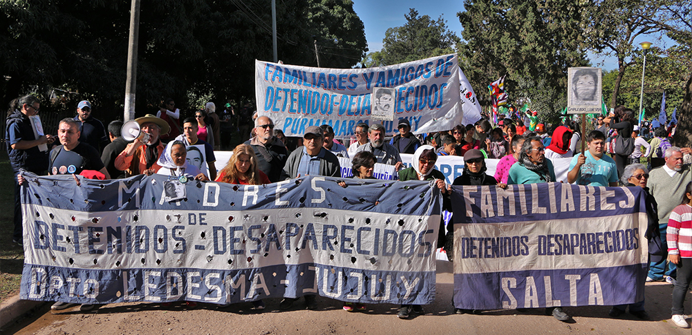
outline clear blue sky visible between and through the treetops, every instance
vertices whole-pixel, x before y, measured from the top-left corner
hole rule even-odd
[[[457,12],[464,11],[464,1],[462,0],[353,0],[354,10],[365,24],[365,38],[370,52],[378,51],[382,48],[382,39],[388,28],[403,26],[406,19],[403,15],[408,14],[409,8],[418,10],[419,15],[428,15],[432,19],[437,19],[442,15],[447,21],[447,26],[462,37],[462,24],[459,23]],[[434,3],[433,6],[430,6]],[[670,47],[673,43],[669,39],[657,41],[655,37],[639,37],[635,43],[650,41],[660,46]],[[667,42],[666,42],[667,41]],[[595,57],[589,54],[593,66],[601,66],[605,70],[617,68],[617,59],[614,57]]]

